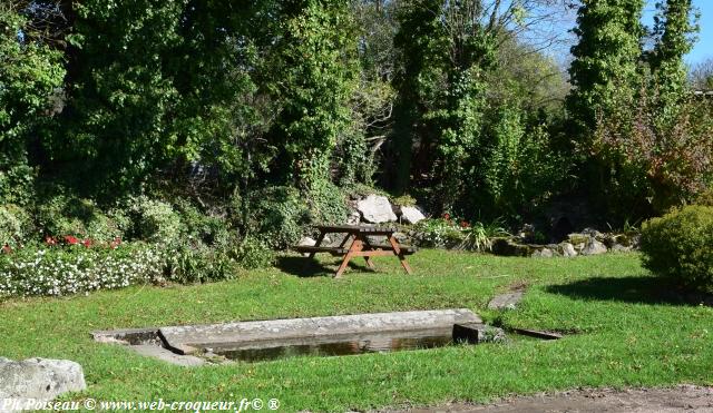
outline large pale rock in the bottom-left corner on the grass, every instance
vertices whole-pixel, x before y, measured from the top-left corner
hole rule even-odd
[[[18,411],[45,403],[62,393],[87,389],[81,366],[68,360],[29,358],[13,362],[0,357],[0,411]],[[2,402],[12,405],[2,409]],[[35,404],[37,405],[37,404]]]

